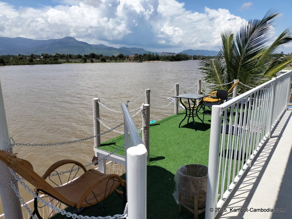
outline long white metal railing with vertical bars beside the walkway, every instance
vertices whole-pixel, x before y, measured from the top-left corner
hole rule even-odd
[[[206,218],[229,197],[287,109],[292,71],[212,107]],[[222,134],[221,134],[222,133]]]

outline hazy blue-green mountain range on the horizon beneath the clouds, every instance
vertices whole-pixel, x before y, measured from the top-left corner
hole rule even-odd
[[[48,40],[34,40],[22,37],[0,37],[0,55],[18,55],[31,53],[41,55],[42,53],[48,54],[89,54],[96,53],[102,55],[134,55],[148,53],[142,48],[114,48],[105,46],[103,44],[88,44],[86,42],[78,41],[73,37],[64,37],[62,39],[48,39]],[[151,52],[152,53],[152,52]],[[188,55],[217,55],[217,51],[208,50],[184,50],[180,53]],[[155,52],[154,52],[155,54]],[[160,54],[160,53],[158,53]]]

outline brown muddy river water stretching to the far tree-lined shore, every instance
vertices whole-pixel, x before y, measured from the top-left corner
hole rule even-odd
[[[198,61],[144,62],[144,63],[93,63],[62,65],[1,66],[0,80],[10,137],[21,143],[55,143],[76,140],[93,135],[92,98],[120,105],[139,98],[146,88],[163,94],[176,83],[185,88],[193,86],[202,78]],[[180,88],[180,93],[195,93],[192,89]],[[169,103],[174,90],[167,95],[150,94],[150,104],[163,107]],[[129,105],[136,109],[145,102],[145,97]],[[109,107],[117,111],[121,108]],[[181,110],[181,108],[179,109]],[[174,112],[171,104],[164,109],[150,108],[151,120],[160,120]],[[132,114],[134,114],[133,112]],[[141,116],[134,117],[141,127]],[[100,117],[109,120],[123,119],[100,107]],[[105,122],[114,127],[117,123]],[[101,132],[107,131],[104,126]],[[118,128],[123,131],[124,127]],[[119,134],[109,132],[101,136],[101,142]],[[27,159],[36,173],[43,175],[55,161],[74,159],[88,164],[94,155],[93,139],[58,146],[15,146],[14,153]],[[22,193],[20,187],[20,192]],[[25,201],[32,199],[23,194]],[[1,206],[2,207],[2,206]],[[0,209],[0,215],[2,214]]]

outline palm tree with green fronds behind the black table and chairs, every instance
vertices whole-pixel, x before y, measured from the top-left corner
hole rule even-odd
[[[272,24],[278,14],[268,11],[262,20],[249,20],[242,25],[235,39],[231,31],[221,33],[222,49],[215,59],[202,58],[199,65],[204,79],[208,83],[220,84],[214,89],[228,90],[234,79],[243,84],[256,87],[292,62],[292,55],[274,58],[280,46],[292,41],[290,29],[283,33],[269,46],[272,36]],[[238,92],[244,93],[248,88],[239,84]]]

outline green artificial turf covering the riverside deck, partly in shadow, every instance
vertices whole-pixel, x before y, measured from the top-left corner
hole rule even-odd
[[[209,138],[211,116],[205,115],[205,127],[195,117],[197,131],[194,123],[187,124],[187,118],[178,128],[185,113],[166,117],[150,125],[150,161],[147,163],[147,218],[194,218],[194,215],[182,207],[178,213],[172,193],[175,187],[173,181],[178,168],[186,164],[208,165]],[[202,118],[202,115],[200,115]],[[100,149],[113,151],[124,144],[124,135],[108,140],[101,144]],[[124,149],[117,154],[124,155]],[[125,174],[122,176],[125,179]],[[111,194],[107,203],[116,199]],[[116,200],[115,200],[116,201]],[[120,201],[120,200],[119,200]],[[120,213],[120,206],[105,208],[102,203],[98,207],[86,209],[81,215],[106,216]],[[199,215],[204,218],[205,213]],[[64,217],[64,216],[63,216]],[[63,218],[60,217],[60,218]],[[59,217],[54,217],[59,218]]]

